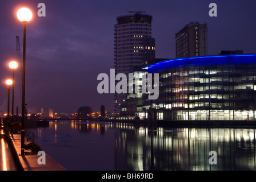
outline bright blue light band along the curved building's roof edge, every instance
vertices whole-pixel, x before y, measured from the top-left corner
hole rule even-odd
[[[149,73],[161,72],[165,69],[199,67],[209,65],[235,65],[235,64],[256,64],[256,54],[253,55],[223,55],[187,57],[182,59],[166,60],[149,65],[145,68]]]

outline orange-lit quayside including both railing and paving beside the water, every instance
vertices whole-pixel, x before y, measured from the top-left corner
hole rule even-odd
[[[38,163],[41,155],[31,149],[25,149],[25,155],[21,155],[21,134],[11,136],[3,125],[0,126],[0,139],[1,171],[66,171],[48,154],[45,154],[45,164]],[[27,143],[31,142],[25,138],[25,146]]]

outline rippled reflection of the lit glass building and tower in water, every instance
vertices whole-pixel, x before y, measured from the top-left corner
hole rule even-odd
[[[117,170],[255,170],[254,129],[118,130]],[[210,165],[210,151],[217,165]]]

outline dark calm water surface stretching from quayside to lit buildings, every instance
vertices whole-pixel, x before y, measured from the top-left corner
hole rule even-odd
[[[129,123],[53,121],[26,129],[67,170],[256,169],[255,129],[195,129]],[[210,164],[210,151],[215,151]],[[211,160],[213,161],[213,160]]]

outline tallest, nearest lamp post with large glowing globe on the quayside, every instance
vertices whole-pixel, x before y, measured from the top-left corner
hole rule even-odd
[[[25,60],[26,60],[26,23],[32,19],[32,12],[22,7],[17,12],[18,19],[23,22],[23,67],[22,67],[22,105],[21,105],[21,155],[25,146]]]

